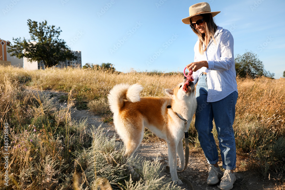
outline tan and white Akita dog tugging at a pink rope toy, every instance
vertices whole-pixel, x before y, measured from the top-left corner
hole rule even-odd
[[[125,158],[129,158],[137,150],[144,136],[144,128],[148,128],[159,138],[163,138],[168,145],[168,161],[172,181],[182,185],[176,171],[176,152],[179,157],[179,167],[185,166],[182,139],[184,137],[184,120],[188,120],[189,129],[192,117],[196,111],[194,83],[188,86],[188,91],[182,90],[186,77],[174,89],[165,89],[169,97],[140,97],[143,87],[139,84],[119,84],[108,94],[108,101],[115,128],[123,140],[126,151]]]

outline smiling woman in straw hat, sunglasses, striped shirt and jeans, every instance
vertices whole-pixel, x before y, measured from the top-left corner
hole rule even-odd
[[[237,102],[237,81],[233,54],[233,36],[229,30],[215,24],[213,17],[220,13],[211,12],[208,3],[197,3],[189,7],[189,17],[182,19],[190,24],[198,41],[194,46],[194,62],[187,65],[193,70],[196,86],[197,110],[195,128],[198,139],[209,163],[207,183],[219,182],[220,189],[232,189],[236,180],[235,136],[233,121]],[[215,121],[219,148],[225,172],[218,166],[218,151],[213,134]],[[223,176],[223,177],[222,177]]]

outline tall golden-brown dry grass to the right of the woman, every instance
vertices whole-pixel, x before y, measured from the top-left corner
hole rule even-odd
[[[285,79],[238,81],[234,123],[237,153],[246,169],[285,176]],[[261,170],[260,170],[261,169]]]

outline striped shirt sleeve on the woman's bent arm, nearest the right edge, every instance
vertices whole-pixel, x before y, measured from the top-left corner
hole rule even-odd
[[[235,64],[233,55],[233,36],[228,30],[223,32],[220,38],[219,60],[207,60],[208,70],[225,71],[229,70],[233,64]]]

